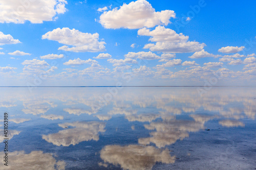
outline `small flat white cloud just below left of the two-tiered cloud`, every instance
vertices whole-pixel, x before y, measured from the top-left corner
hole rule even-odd
[[[124,55],[125,58],[133,58],[133,59],[141,59],[141,60],[156,60],[160,59],[159,56],[152,52],[129,52],[128,54]]]

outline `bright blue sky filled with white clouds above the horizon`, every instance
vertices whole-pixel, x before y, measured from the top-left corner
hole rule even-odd
[[[0,86],[255,85],[255,5],[0,0]]]

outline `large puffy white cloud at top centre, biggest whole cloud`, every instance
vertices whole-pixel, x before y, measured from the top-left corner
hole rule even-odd
[[[152,28],[157,25],[167,26],[171,17],[175,18],[174,11],[155,12],[150,3],[138,0],[130,4],[123,4],[120,9],[114,8],[111,11],[105,11],[100,15],[99,22],[106,29],[139,29]]]

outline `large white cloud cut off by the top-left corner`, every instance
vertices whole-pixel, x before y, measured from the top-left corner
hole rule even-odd
[[[56,19],[57,14],[67,11],[65,0],[0,1],[0,23],[42,23]]]

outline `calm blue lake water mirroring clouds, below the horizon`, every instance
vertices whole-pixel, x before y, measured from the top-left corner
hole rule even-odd
[[[255,87],[0,88],[0,97],[0,169],[256,169]]]

